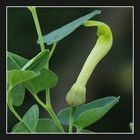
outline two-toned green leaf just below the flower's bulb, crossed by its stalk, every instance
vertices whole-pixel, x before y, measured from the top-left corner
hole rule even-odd
[[[102,118],[117,102],[119,97],[105,97],[77,107],[73,114],[74,125],[85,128]],[[62,124],[69,124],[69,108],[58,113]]]

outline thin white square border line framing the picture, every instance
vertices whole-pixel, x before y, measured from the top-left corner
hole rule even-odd
[[[8,32],[7,32],[7,28],[8,28],[8,26],[7,26],[7,21],[8,21],[8,15],[7,15],[7,9],[8,8],[25,8],[25,7],[27,7],[27,6],[6,6],[6,57],[7,57],[7,50],[8,50],[8,47],[7,47],[7,34],[8,34]],[[132,108],[132,112],[133,112],[133,116],[132,116],[132,122],[133,122],[133,125],[134,125],[134,127],[135,127],[135,120],[134,120],[134,6],[36,6],[36,7],[49,7],[49,8],[132,8],[132,47],[133,47],[133,49],[132,49],[132,100],[133,100],[133,108]],[[7,70],[7,59],[6,59],[6,70]],[[7,74],[6,74],[6,81],[7,81]],[[6,91],[7,91],[7,82],[6,82]],[[9,133],[9,132],[7,132],[7,126],[8,126],[8,123],[7,123],[7,112],[8,112],[8,110],[7,110],[7,99],[6,99],[6,134],[10,134],[10,135],[17,135],[17,134],[28,134],[28,135],[32,135],[32,134],[34,134],[34,135],[41,135],[41,134],[69,134],[69,133],[31,133],[31,134],[29,134],[29,133],[16,133],[16,134],[14,134],[14,133]],[[133,127],[133,128],[134,128]],[[76,134],[76,133],[73,133],[73,134]],[[133,129],[133,131],[132,132],[97,132],[97,133],[80,133],[80,134],[87,134],[87,135],[99,135],[99,134],[134,134],[134,129]],[[79,135],[79,134],[78,134]]]

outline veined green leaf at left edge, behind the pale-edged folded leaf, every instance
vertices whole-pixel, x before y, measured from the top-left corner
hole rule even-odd
[[[8,52],[8,70],[12,69],[20,69],[22,68],[29,60],[26,58],[23,58],[17,54]]]

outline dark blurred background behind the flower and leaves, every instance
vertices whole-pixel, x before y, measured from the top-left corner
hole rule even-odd
[[[106,96],[121,96],[120,102],[101,120],[88,129],[94,132],[130,132],[132,121],[132,8],[37,8],[43,35],[73,21],[96,9],[101,15],[95,20],[110,26],[113,33],[113,46],[109,53],[97,65],[87,84],[87,101],[90,102]],[[39,51],[36,44],[37,33],[33,18],[27,8],[9,7],[7,9],[8,51],[31,59]],[[67,107],[65,96],[75,82],[84,61],[96,43],[97,28],[79,27],[72,34],[58,43],[51,59],[50,69],[59,78],[57,86],[51,90],[52,104],[55,112]],[[50,47],[51,46],[46,46]],[[44,94],[40,93],[43,99]],[[25,101],[16,110],[21,116],[36,104],[31,94],[26,94]],[[40,107],[40,117],[48,114]],[[49,116],[48,116],[49,117]],[[8,131],[18,120],[8,111]]]

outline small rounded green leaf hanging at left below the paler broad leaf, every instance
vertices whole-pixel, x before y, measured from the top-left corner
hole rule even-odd
[[[12,104],[14,106],[20,106],[23,103],[24,97],[25,97],[25,87],[23,84],[16,85],[11,91],[10,91]]]

